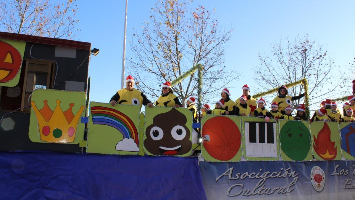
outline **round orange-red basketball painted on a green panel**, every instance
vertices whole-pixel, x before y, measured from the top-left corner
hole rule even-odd
[[[228,161],[239,151],[241,134],[235,122],[228,117],[216,116],[207,120],[202,127],[202,137],[206,135],[210,141],[202,144],[214,159]]]

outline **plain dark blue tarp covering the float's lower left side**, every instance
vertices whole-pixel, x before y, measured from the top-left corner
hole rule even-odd
[[[206,199],[196,158],[0,152],[0,199]]]

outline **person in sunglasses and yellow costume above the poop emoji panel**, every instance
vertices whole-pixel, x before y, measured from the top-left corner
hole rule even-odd
[[[165,82],[162,86],[162,95],[155,101],[155,106],[161,107],[181,107],[179,98],[173,94],[171,84],[169,81]]]

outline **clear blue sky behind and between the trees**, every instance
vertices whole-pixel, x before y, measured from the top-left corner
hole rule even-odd
[[[131,56],[128,42],[132,41],[132,34],[141,31],[155,3],[154,0],[129,0],[126,58]],[[90,101],[108,102],[121,85],[125,0],[77,0],[76,4],[79,7],[76,17],[80,20],[77,28],[81,30],[76,40],[91,42],[92,48],[100,49],[89,64]],[[216,9],[220,25],[234,29],[226,45],[224,64],[242,72],[239,80],[227,86],[233,100],[241,95],[244,84],[250,86],[251,94],[259,92],[253,90],[256,83],[249,69],[260,64],[258,51],[270,54],[270,44],[281,37],[309,34],[311,39],[327,47],[328,55],[335,59],[339,69],[346,70],[345,65],[353,61],[355,1],[203,0],[192,2],[191,8],[197,4]]]

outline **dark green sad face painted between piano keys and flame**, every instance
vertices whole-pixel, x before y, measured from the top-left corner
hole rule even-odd
[[[281,128],[280,143],[286,156],[302,161],[311,148],[310,131],[301,121],[288,121]]]

